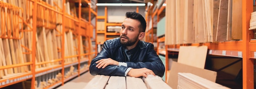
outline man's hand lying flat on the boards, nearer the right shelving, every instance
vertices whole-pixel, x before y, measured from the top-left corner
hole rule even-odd
[[[146,68],[140,68],[140,69],[131,69],[128,73],[127,76],[131,76],[131,77],[140,77],[140,76],[144,76],[147,77],[148,75],[153,75],[155,76],[155,73],[150,70],[150,69],[146,69]]]

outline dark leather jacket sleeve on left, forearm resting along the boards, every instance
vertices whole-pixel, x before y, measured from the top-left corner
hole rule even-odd
[[[95,62],[104,58],[111,58],[110,46],[107,41],[104,42],[101,52],[98,53],[97,56],[91,62],[89,70],[92,75],[124,76],[124,73],[128,67],[108,65],[104,69],[98,69],[96,67],[97,64]]]

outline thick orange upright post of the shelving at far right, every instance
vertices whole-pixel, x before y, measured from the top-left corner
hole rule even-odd
[[[243,30],[243,89],[254,89],[254,60],[249,57],[249,41],[253,31],[249,31],[253,1],[242,0],[242,30]]]

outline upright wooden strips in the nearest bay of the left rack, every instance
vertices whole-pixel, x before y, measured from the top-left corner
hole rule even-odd
[[[0,67],[31,62],[31,50],[28,49],[31,48],[31,39],[25,39],[29,35],[23,29],[26,27],[23,22],[27,15],[24,10],[25,2],[26,0],[0,0]],[[26,71],[30,71],[27,65],[0,69],[0,77],[8,78]]]

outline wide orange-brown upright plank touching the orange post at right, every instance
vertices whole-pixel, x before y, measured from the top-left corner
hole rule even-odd
[[[233,40],[242,40],[242,0],[232,0],[232,32]]]

